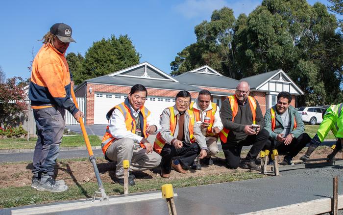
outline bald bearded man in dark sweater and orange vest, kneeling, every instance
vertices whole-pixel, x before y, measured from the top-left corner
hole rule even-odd
[[[225,165],[230,169],[238,166],[245,169],[261,170],[256,157],[262,149],[270,146],[269,133],[264,129],[265,120],[258,102],[249,96],[250,86],[240,81],[235,95],[229,96],[221,105],[221,122],[224,126],[219,133]],[[252,145],[245,160],[241,160],[243,146]]]

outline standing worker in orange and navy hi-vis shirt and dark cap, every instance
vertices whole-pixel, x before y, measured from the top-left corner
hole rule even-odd
[[[70,99],[73,81],[65,57],[69,43],[75,41],[72,28],[64,23],[50,27],[42,40],[44,45],[33,60],[28,94],[38,129],[31,188],[62,192],[68,186],[52,176],[62,142],[65,109],[77,121],[83,117]]]

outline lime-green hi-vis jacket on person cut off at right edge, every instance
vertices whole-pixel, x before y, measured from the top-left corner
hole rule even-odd
[[[320,123],[317,135],[320,142],[323,142],[331,130],[337,138],[343,138],[343,103],[332,105],[327,108],[323,121]]]

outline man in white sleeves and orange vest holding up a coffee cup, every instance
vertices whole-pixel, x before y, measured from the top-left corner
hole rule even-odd
[[[194,111],[196,123],[200,125],[201,131],[206,137],[207,157],[202,159],[201,163],[212,165],[211,156],[215,156],[219,152],[218,134],[223,128],[220,109],[216,103],[211,102],[211,92],[205,89],[199,92],[196,100],[191,103],[190,109]]]

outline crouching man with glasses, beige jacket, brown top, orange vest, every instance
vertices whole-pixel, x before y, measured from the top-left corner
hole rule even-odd
[[[180,91],[175,105],[163,110],[160,116],[161,132],[157,134],[154,150],[162,156],[161,177],[169,178],[171,168],[187,173],[190,165],[200,153],[207,156],[207,145],[196,123],[194,112],[188,109],[192,101],[188,91]]]

